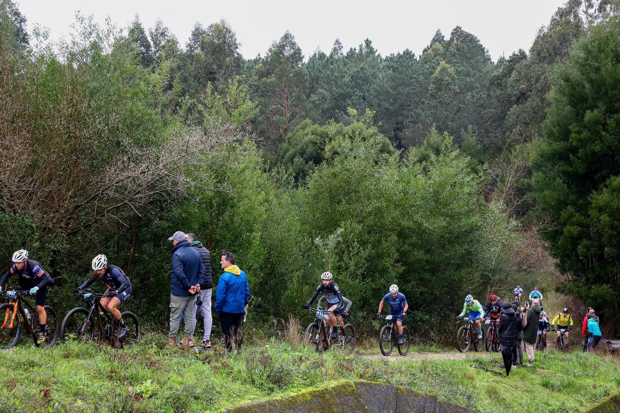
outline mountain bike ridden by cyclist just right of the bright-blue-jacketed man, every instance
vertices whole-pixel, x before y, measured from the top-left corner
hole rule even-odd
[[[342,334],[332,339],[334,326],[329,319],[329,314],[334,314],[334,312],[321,308],[309,308],[308,311],[314,313],[314,321],[308,324],[304,332],[303,340],[306,344],[313,345],[317,352],[326,352],[332,345],[338,345],[347,352],[353,352],[356,338],[355,328],[351,324],[341,327]]]

